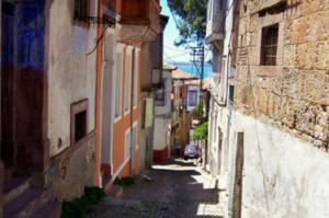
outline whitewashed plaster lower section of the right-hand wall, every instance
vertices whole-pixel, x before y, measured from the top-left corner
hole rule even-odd
[[[241,217],[329,217],[328,153],[240,113],[232,114],[229,156],[225,156],[229,162],[228,211],[234,202],[239,131],[245,133]]]

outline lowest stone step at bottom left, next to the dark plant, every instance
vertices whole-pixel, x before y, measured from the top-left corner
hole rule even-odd
[[[58,218],[60,217],[60,211],[61,204],[59,202],[48,200],[29,218]]]

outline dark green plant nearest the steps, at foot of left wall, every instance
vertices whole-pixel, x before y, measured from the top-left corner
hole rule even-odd
[[[102,188],[84,187],[84,194],[81,197],[63,202],[60,218],[83,218],[104,197],[106,197],[106,194]]]

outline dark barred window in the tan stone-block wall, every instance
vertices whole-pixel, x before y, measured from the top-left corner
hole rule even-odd
[[[262,28],[261,65],[275,66],[279,24]]]

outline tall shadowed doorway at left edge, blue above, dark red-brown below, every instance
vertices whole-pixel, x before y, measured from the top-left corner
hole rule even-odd
[[[44,2],[2,0],[1,159],[4,183],[43,169]]]

